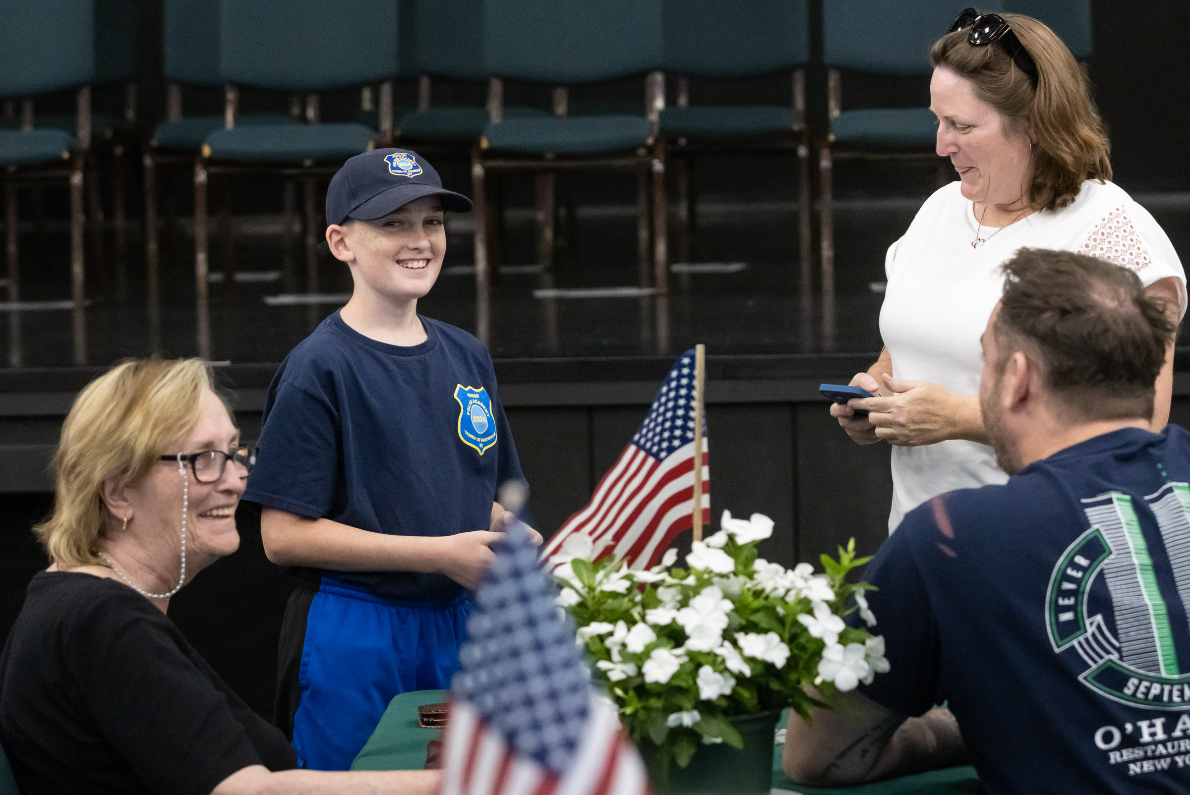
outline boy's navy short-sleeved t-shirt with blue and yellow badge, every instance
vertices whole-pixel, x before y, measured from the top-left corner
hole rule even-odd
[[[273,378],[245,500],[393,536],[488,530],[496,489],[520,478],[487,349],[421,318],[420,345],[381,343],[336,312]],[[446,601],[439,574],[327,571],[389,599]]]

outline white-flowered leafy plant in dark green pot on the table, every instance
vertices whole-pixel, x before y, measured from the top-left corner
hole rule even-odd
[[[869,559],[856,558],[854,539],[814,574],[757,556],[772,526],[725,511],[684,569],[671,549],[635,571],[584,536],[550,559],[558,603],[662,793],[768,793],[781,709],[808,716],[818,703],[802,686],[829,695],[889,669],[884,639],[843,621],[859,611],[876,624],[871,586],[846,582]]]

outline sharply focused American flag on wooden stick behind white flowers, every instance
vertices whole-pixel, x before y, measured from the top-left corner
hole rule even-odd
[[[710,524],[707,424],[702,439],[702,522]],[[600,481],[590,502],[546,543],[543,557],[582,533],[595,549],[633,569],[656,565],[665,549],[694,524],[694,351],[674,363],[649,417]]]

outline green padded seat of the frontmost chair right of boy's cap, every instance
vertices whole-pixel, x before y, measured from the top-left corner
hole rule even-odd
[[[483,130],[488,149],[516,152],[602,152],[649,143],[649,121],[639,115],[508,119]]]

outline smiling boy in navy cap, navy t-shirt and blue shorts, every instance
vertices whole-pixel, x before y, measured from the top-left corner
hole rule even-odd
[[[394,695],[444,689],[474,588],[521,478],[491,358],[418,314],[446,251],[445,190],[415,152],[349,159],[326,243],[351,269],[342,309],[269,386],[246,500],[274,563],[299,570],[278,650],[275,720],[302,766],[345,770]]]

